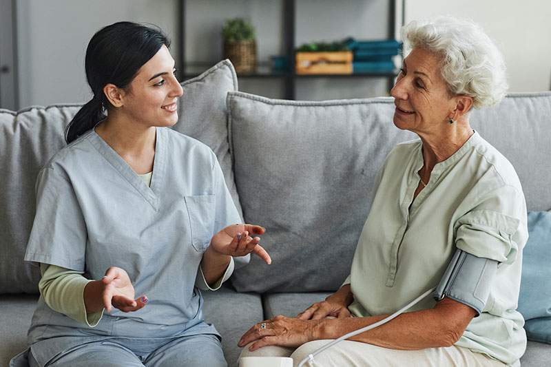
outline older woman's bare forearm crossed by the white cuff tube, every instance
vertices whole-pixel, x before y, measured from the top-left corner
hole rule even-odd
[[[336,339],[374,324],[386,316],[388,315],[326,319],[320,325],[320,335],[316,339]],[[451,346],[457,342],[462,331],[454,331],[457,329],[450,328],[450,325],[442,322],[443,319],[434,309],[404,313],[382,326],[355,335],[350,340],[401,350]]]

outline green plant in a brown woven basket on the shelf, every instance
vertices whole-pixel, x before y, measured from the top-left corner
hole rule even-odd
[[[236,72],[254,72],[256,68],[256,42],[254,28],[241,18],[227,19],[222,28],[224,56],[231,60]]]

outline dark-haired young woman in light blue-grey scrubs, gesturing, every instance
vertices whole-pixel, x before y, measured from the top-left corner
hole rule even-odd
[[[236,224],[211,149],[169,129],[183,90],[168,47],[129,22],[87,47],[94,97],[37,180],[30,366],[226,366],[197,288],[218,289],[249,253],[271,262],[264,229]]]

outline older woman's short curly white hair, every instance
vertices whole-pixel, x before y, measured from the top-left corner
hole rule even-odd
[[[455,95],[472,97],[472,107],[496,105],[508,90],[505,62],[495,43],[468,19],[435,17],[402,27],[407,50],[422,48],[441,58],[440,72]]]

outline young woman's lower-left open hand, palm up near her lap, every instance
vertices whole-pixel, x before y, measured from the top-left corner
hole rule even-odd
[[[112,306],[123,312],[138,311],[147,303],[147,297],[134,300],[134,286],[124,269],[111,266],[101,280],[103,292],[101,294],[103,306],[111,312]]]

